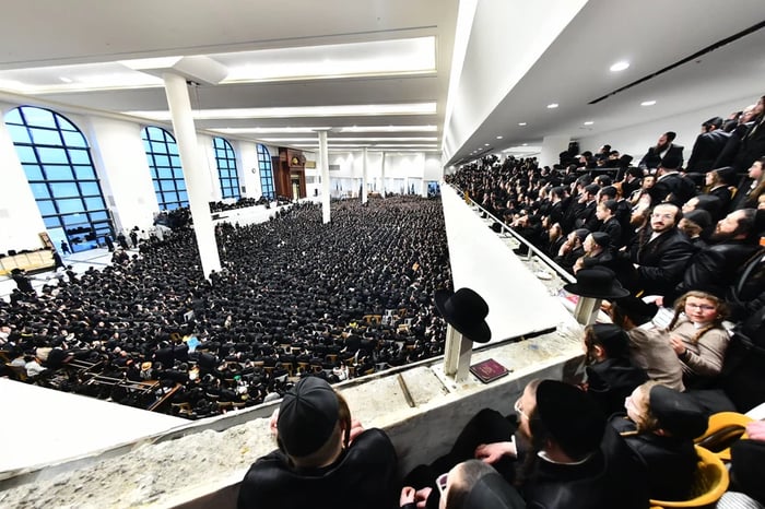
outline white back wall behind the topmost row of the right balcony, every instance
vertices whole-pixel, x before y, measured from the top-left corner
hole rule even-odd
[[[757,102],[757,97],[742,97],[740,99],[708,106],[704,109],[690,111],[683,115],[667,117],[658,121],[639,123],[625,129],[611,131],[607,134],[579,138],[579,151],[591,151],[595,153],[603,144],[611,145],[622,154],[629,154],[634,157],[633,164],[637,165],[640,158],[648,151],[649,146],[656,145],[659,137],[667,131],[674,131],[678,138],[675,144],[683,145],[683,155],[687,162],[691,157],[693,144],[701,133],[702,122],[713,118],[728,117],[733,111],[739,111],[744,107]]]

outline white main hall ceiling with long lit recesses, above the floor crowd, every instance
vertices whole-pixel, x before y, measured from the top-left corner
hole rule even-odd
[[[152,73],[204,57],[226,74],[190,88],[199,129],[286,145],[280,138],[291,130],[318,126],[332,129],[330,146],[336,135],[397,146],[435,128],[439,145],[457,4],[13,2],[0,20],[0,88],[63,111],[166,122],[163,82]]]

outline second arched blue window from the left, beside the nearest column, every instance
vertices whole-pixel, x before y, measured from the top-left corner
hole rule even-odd
[[[162,128],[150,126],[141,131],[141,139],[146,151],[160,209],[172,211],[189,206],[189,196],[186,191],[178,145],[173,134]]]

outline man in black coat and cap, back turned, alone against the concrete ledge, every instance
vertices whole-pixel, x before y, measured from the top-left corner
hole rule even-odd
[[[280,448],[256,461],[238,509],[398,508],[398,460],[380,429],[352,426],[344,400],[317,377],[285,394],[276,418]]]

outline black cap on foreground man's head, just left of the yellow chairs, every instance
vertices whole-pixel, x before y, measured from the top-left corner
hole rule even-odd
[[[537,413],[563,451],[578,460],[600,446],[605,417],[585,391],[557,380],[537,388]]]

